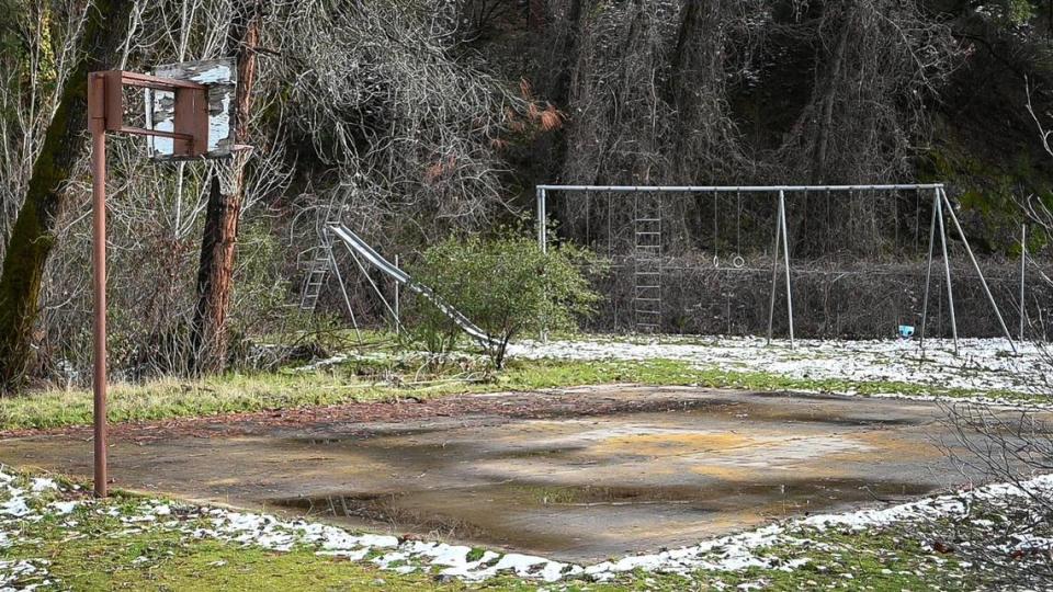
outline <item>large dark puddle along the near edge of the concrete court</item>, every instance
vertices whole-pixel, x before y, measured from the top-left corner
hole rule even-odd
[[[553,522],[603,521],[613,538],[637,532],[634,543],[656,534],[682,544],[703,537],[706,524],[743,524],[827,511],[845,504],[897,503],[933,489],[931,485],[864,479],[792,479],[782,482],[718,482],[707,487],[551,486],[507,482],[445,491],[329,494],[269,500],[268,504],[355,526],[448,537],[472,544],[530,549],[571,559],[597,559],[597,551],[625,551],[604,537],[566,535]],[[523,515],[548,516],[548,527]],[[682,534],[680,534],[682,533]],[[577,538],[577,540],[575,540]],[[591,538],[591,540],[588,540]],[[585,545],[581,545],[582,539]],[[657,540],[657,539],[656,539]]]

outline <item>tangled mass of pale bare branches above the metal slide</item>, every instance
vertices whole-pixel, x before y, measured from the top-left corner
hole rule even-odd
[[[420,243],[508,212],[500,152],[544,115],[454,59],[456,26],[442,11],[305,2],[286,33],[294,141],[318,163],[316,185],[332,187],[327,197],[385,243]]]

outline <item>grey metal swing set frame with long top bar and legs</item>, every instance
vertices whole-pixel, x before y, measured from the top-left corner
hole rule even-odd
[[[925,351],[925,328],[926,321],[928,320],[928,307],[929,307],[929,293],[930,285],[932,282],[932,260],[935,258],[935,247],[936,247],[936,232],[937,227],[939,227],[939,240],[941,246],[941,253],[943,259],[943,273],[944,281],[947,283],[947,296],[949,304],[949,314],[951,320],[951,334],[954,342],[954,354],[959,353],[959,343],[958,343],[958,319],[954,315],[954,291],[951,286],[951,264],[950,264],[950,254],[947,249],[947,225],[944,224],[944,210],[947,208],[948,217],[954,225],[955,230],[959,236],[962,238],[962,243],[965,246],[965,252],[969,254],[969,259],[973,265],[973,269],[976,271],[976,275],[980,278],[980,283],[983,286],[984,294],[987,297],[987,301],[990,304],[992,310],[995,312],[996,318],[998,319],[998,325],[1001,328],[1003,334],[1009,341],[1012,351],[1017,352],[1016,342],[1012,339],[1012,335],[1009,333],[1009,329],[1006,326],[1006,321],[1001,316],[1001,311],[998,309],[998,304],[995,301],[994,295],[990,292],[990,287],[987,285],[987,280],[984,277],[984,272],[980,267],[980,263],[976,260],[976,255],[973,253],[972,247],[969,244],[969,239],[965,237],[965,232],[962,230],[962,225],[958,219],[958,215],[954,213],[954,207],[951,205],[950,200],[947,197],[947,191],[943,183],[904,183],[904,184],[878,184],[878,185],[537,185],[535,187],[536,193],[536,226],[537,226],[537,244],[543,252],[547,251],[548,248],[548,196],[551,193],[558,192],[565,194],[577,194],[577,193],[589,193],[589,192],[604,192],[604,193],[618,193],[618,194],[641,194],[641,193],[687,193],[687,194],[721,194],[721,193],[755,193],[755,194],[770,194],[777,201],[777,215],[775,215],[775,237],[774,237],[774,258],[772,263],[771,272],[771,299],[768,309],[768,344],[771,344],[772,331],[774,326],[774,311],[775,311],[775,300],[778,293],[778,278],[779,278],[779,267],[783,267],[783,275],[785,278],[785,299],[786,299],[786,317],[789,322],[789,337],[790,337],[790,346],[794,349],[796,346],[796,340],[793,333],[793,295],[791,292],[790,283],[790,249],[789,249],[789,238],[788,238],[788,227],[786,227],[786,197],[788,195],[802,194],[806,195],[807,193],[816,192],[827,192],[827,193],[851,193],[851,192],[863,192],[863,191],[917,191],[919,195],[921,192],[931,192],[932,194],[932,220],[929,227],[929,251],[926,263],[926,277],[925,277],[925,297],[921,306],[921,328],[919,332],[919,348],[922,353]],[[781,257],[781,261],[780,261]],[[543,333],[544,337],[544,333]]]

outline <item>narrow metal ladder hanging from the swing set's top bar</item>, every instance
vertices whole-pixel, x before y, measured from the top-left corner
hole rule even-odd
[[[633,311],[636,332],[661,330],[661,196],[637,195],[633,204]]]

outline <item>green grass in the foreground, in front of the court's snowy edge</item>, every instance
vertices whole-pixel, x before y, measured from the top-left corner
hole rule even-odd
[[[25,487],[24,479],[21,487]],[[39,503],[71,493],[48,493]],[[117,492],[104,502],[79,505],[72,514],[45,514],[25,521],[15,545],[0,548],[0,560],[46,559],[52,579],[71,590],[535,590],[537,582],[510,576],[466,583],[440,578],[434,571],[398,574],[367,562],[315,555],[310,548],[274,553],[213,539],[199,539],[162,523],[135,523],[141,531],[107,514],[116,509],[134,515],[143,501]],[[75,521],[76,526],[66,525]],[[193,523],[192,523],[193,524]],[[9,533],[11,534],[11,533]],[[569,580],[548,589],[592,590],[716,590],[744,583],[763,583],[769,590],[962,590],[981,588],[976,574],[953,555],[940,555],[918,543],[909,525],[865,532],[794,533],[804,545],[783,544],[765,549],[782,565],[808,561],[790,570],[750,568],[743,571],[699,570],[688,574],[635,571],[596,583]],[[478,557],[484,549],[474,549]],[[41,583],[23,580],[22,585]]]

